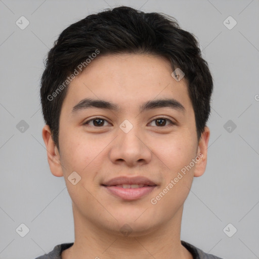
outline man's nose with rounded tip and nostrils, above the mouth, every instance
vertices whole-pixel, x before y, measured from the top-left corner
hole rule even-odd
[[[144,134],[137,127],[128,133],[119,129],[119,135],[110,150],[110,160],[115,164],[125,164],[130,167],[148,164],[152,151],[146,143]]]

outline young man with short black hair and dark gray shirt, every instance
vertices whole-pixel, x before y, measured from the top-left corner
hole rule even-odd
[[[212,88],[196,39],[170,17],[118,7],[66,28],[40,94],[75,240],[38,258],[219,258],[180,240],[206,167]]]

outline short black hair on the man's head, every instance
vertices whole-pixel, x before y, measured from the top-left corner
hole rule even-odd
[[[122,53],[159,55],[170,61],[173,71],[180,68],[184,72],[199,140],[210,114],[213,82],[198,41],[171,16],[120,6],[73,23],[48,53],[40,98],[45,122],[58,149],[60,112],[72,75],[87,68],[97,54]]]

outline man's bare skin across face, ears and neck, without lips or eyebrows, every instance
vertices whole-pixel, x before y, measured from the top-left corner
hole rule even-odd
[[[187,81],[177,81],[171,73],[169,61],[154,55],[100,56],[69,85],[60,115],[59,150],[44,126],[50,169],[64,177],[72,199],[75,241],[62,252],[63,259],[193,258],[180,242],[181,221],[193,178],[206,168],[209,128],[198,141]],[[119,110],[72,113],[84,98],[113,102]],[[143,103],[164,98],[179,101],[184,112],[169,107],[140,112]],[[155,120],[161,116],[176,124],[162,120],[161,126]],[[83,124],[95,117],[105,119],[101,126],[96,121]],[[128,133],[119,127],[125,119],[133,125]],[[199,153],[203,157],[153,205],[150,200]],[[81,177],[76,185],[68,181],[73,171]],[[125,201],[101,186],[118,176],[145,176],[157,187],[145,197]],[[120,231],[124,224],[132,230],[128,235]]]

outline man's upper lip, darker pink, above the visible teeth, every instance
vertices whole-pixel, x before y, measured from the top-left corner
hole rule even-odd
[[[143,184],[143,185],[149,185],[149,186],[155,186],[156,184],[149,180],[146,177],[116,177],[113,178],[107,182],[104,182],[102,185],[105,186],[112,186],[112,185],[123,185],[123,184]]]

